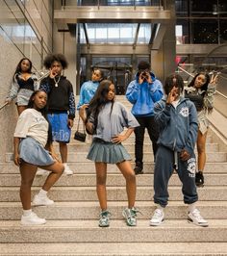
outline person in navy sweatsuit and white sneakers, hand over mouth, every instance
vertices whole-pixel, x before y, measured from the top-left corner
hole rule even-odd
[[[154,107],[155,120],[160,127],[158,150],[154,172],[154,201],[158,205],[150,220],[151,226],[164,222],[164,208],[168,203],[168,181],[175,169],[181,182],[184,202],[189,205],[188,221],[199,226],[208,226],[195,207],[198,195],[195,186],[194,145],[198,123],[194,104],[181,96],[184,81],[172,74],[165,80],[166,98]]]

